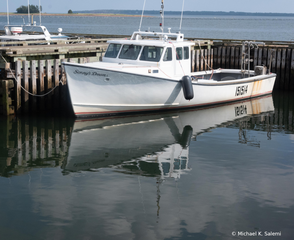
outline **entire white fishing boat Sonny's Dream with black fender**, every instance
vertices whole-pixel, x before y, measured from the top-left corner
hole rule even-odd
[[[191,72],[195,42],[184,41],[180,31],[136,31],[131,39],[107,42],[100,62],[63,63],[76,116],[220,104],[270,94],[275,83],[276,75],[266,67],[249,70],[245,45],[263,43],[243,42],[240,70]]]

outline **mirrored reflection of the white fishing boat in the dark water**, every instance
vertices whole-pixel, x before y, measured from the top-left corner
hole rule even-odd
[[[189,145],[198,135],[273,111],[272,96],[266,96],[190,111],[76,119],[61,168],[95,171],[111,166],[126,174],[180,178],[189,171]],[[242,139],[247,124],[239,128],[240,141],[248,143],[246,133]]]

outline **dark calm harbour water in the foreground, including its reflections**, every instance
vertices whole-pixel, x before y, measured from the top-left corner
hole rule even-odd
[[[0,118],[1,239],[293,239],[294,94],[100,119]]]

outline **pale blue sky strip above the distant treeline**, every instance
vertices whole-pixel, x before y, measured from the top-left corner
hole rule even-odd
[[[0,12],[6,12],[6,0],[1,0]],[[5,3],[5,4],[4,4]],[[39,0],[30,0],[30,4],[39,5]],[[16,8],[28,4],[26,0],[8,0],[9,12],[15,12]],[[123,10],[140,10],[143,9],[144,0],[41,0],[43,12],[47,13],[67,13],[72,11],[97,10],[97,9],[123,9]],[[182,1],[166,0],[164,1],[164,10],[181,11]],[[5,6],[5,7],[4,7]],[[161,0],[147,0],[145,3],[146,10],[160,10]],[[276,12],[276,13],[294,13],[293,0],[211,0],[195,1],[186,0],[184,11],[241,11],[241,12]]]

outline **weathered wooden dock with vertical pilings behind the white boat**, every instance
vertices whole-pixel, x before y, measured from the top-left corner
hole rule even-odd
[[[1,31],[0,31],[1,32]],[[81,34],[67,34],[80,36]],[[66,85],[62,61],[93,62],[100,61],[106,51],[107,40],[130,36],[86,34],[83,39],[48,41],[1,42],[0,59],[0,114],[59,114],[72,111]],[[195,45],[191,46],[191,72],[207,71],[207,64],[213,68],[240,69],[241,44],[238,39],[200,39],[200,47],[195,38],[188,38]],[[83,41],[84,43],[81,43]],[[250,40],[249,40],[250,41]],[[257,40],[256,40],[257,41]],[[260,40],[258,40],[260,41]],[[294,44],[286,41],[263,41],[265,46],[250,50],[250,69],[261,64],[269,66],[270,51],[275,49],[270,71],[277,74],[275,89],[294,90]],[[29,45],[36,44],[39,45]],[[203,53],[203,54],[202,54]],[[12,73],[9,70],[12,69]],[[31,96],[21,89],[21,86],[32,94],[42,95],[55,86],[53,92],[44,96]],[[62,81],[63,85],[59,84]]]

